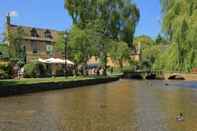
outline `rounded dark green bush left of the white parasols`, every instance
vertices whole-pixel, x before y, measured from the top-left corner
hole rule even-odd
[[[32,64],[26,64],[24,66],[25,78],[39,78],[47,76],[46,65],[40,62],[34,62]]]

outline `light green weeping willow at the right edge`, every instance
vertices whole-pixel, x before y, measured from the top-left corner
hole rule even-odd
[[[165,57],[173,65],[170,70],[190,71],[197,66],[197,1],[161,0],[161,5],[163,31],[172,43],[169,50],[174,54],[173,58]]]

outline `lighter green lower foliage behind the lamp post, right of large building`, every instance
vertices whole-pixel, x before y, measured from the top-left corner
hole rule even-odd
[[[68,48],[70,58],[79,65],[84,65],[95,56],[99,58],[104,70],[107,69],[107,54],[112,47],[112,41],[103,33],[102,22],[89,23],[87,28],[81,29],[74,25],[70,31]]]

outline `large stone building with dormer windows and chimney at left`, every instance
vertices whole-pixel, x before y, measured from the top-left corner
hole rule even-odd
[[[30,63],[39,58],[47,59],[50,57],[63,57],[62,54],[54,51],[55,40],[61,31],[14,25],[11,23],[10,16],[6,17],[6,32],[17,32],[17,29],[24,31],[22,47],[25,48],[26,62]],[[8,46],[9,40],[6,40]]]

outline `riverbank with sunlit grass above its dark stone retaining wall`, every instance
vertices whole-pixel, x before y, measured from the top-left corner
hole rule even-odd
[[[40,91],[96,85],[119,80],[119,76],[57,77],[21,80],[0,80],[0,97]]]

